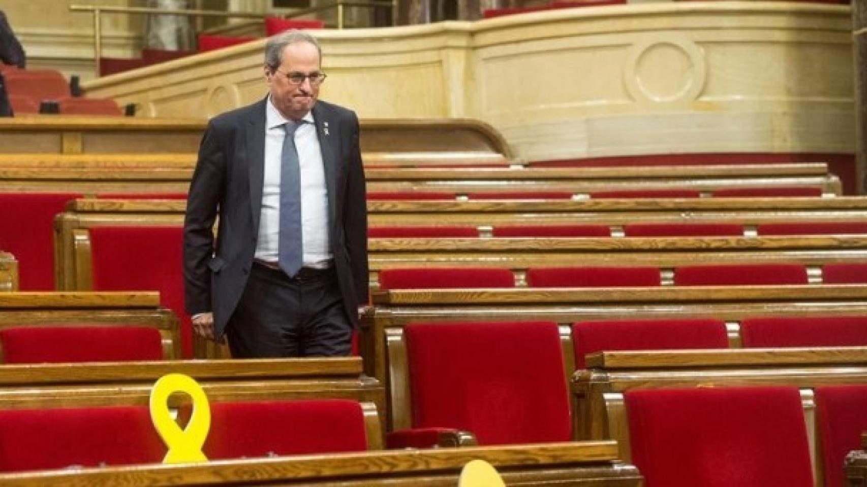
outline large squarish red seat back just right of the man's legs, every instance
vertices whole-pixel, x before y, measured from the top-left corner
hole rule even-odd
[[[479,445],[570,439],[557,324],[418,323],[404,331],[414,426],[466,430]]]

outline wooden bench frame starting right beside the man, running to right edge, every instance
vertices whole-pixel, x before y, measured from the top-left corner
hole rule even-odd
[[[362,317],[362,356],[369,375],[385,382],[392,429],[411,426],[402,329],[413,322],[554,321],[564,346],[564,378],[575,370],[570,324],[588,320],[715,318],[730,344],[748,317],[867,316],[867,286],[783,285],[607,289],[476,289],[374,292]]]

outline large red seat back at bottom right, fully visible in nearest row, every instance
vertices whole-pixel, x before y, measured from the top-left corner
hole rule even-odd
[[[648,487],[812,487],[797,388],[636,389],[632,462]]]

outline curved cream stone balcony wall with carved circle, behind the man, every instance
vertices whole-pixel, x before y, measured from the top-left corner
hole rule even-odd
[[[326,30],[323,99],[364,118],[468,117],[519,157],[855,147],[850,9],[642,3]],[[88,94],[210,117],[265,93],[264,41],[118,74]]]

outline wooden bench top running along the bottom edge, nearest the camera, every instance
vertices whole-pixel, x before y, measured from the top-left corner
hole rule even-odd
[[[623,465],[613,441],[363,452],[290,458],[225,460],[186,465],[135,465],[0,475],[9,487],[108,485],[292,484],[346,486],[457,485],[467,462],[491,463],[507,485],[563,484],[631,487],[642,484],[634,466]]]

